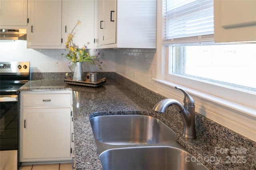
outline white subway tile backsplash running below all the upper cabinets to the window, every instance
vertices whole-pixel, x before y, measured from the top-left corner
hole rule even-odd
[[[70,72],[65,49],[27,49],[26,41],[0,42],[0,61],[30,61],[31,72]],[[156,49],[100,49],[102,71],[117,72],[149,88],[154,88]],[[64,55],[62,55],[62,53]],[[97,52],[98,53],[98,52]],[[84,72],[101,71],[84,63]],[[153,74],[155,76],[155,74]]]

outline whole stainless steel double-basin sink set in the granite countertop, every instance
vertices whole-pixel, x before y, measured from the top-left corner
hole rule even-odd
[[[207,170],[155,117],[104,115],[90,123],[103,170]]]

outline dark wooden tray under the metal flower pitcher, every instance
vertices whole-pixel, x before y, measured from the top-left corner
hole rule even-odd
[[[68,78],[64,80],[66,84],[77,85],[77,86],[85,86],[85,87],[98,87],[106,84],[106,78],[98,79],[97,82],[89,82],[89,79],[86,81],[75,81],[72,78]]]

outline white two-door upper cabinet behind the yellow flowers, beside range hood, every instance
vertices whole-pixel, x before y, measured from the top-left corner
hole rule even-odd
[[[68,33],[79,47],[94,47],[94,0],[31,0],[28,48],[64,49]]]

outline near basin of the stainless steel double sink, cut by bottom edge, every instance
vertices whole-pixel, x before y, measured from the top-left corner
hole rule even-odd
[[[206,170],[185,150],[174,147],[110,149],[100,154],[103,170]]]

